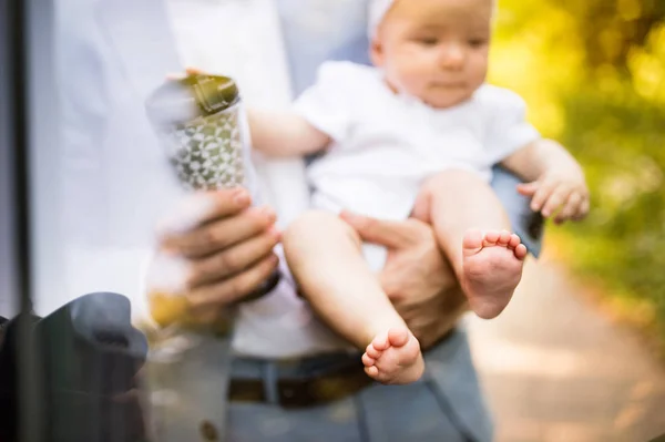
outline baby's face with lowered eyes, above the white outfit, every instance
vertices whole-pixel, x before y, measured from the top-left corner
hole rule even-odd
[[[372,42],[388,84],[433,107],[462,103],[485,81],[493,0],[396,0]]]

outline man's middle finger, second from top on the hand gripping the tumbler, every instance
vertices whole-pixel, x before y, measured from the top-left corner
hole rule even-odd
[[[267,230],[276,219],[269,207],[253,207],[231,218],[211,222],[197,229],[164,240],[164,246],[187,258],[202,258]]]

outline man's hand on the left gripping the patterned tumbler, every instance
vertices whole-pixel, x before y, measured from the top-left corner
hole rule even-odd
[[[277,267],[276,216],[268,207],[249,207],[245,189],[195,197],[209,198],[209,206],[195,214],[193,227],[163,234],[160,248],[185,260],[185,295],[193,310],[218,309],[249,295]]]

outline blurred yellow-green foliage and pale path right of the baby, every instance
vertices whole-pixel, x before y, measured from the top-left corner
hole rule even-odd
[[[582,162],[590,217],[492,322],[469,318],[501,441],[665,431],[665,1],[500,0],[491,81]]]

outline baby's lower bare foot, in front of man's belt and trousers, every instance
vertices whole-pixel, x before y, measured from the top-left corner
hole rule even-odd
[[[365,372],[381,383],[416,382],[424,371],[418,339],[405,328],[391,328],[375,338],[362,354]]]

